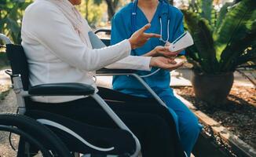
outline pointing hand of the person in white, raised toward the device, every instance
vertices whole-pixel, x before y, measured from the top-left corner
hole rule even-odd
[[[154,33],[144,33],[151,24],[146,24],[141,29],[135,31],[133,35],[129,38],[131,49],[137,49],[144,45],[145,42],[149,40],[149,38],[160,38],[160,35]]]

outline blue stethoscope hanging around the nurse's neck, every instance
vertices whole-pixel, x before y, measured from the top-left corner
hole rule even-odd
[[[164,40],[163,39],[163,21],[162,21],[162,16],[163,16],[163,5],[167,5],[168,6],[168,4],[166,3],[166,1],[165,0],[159,0],[160,2],[162,2],[162,6],[161,6],[161,10],[162,10],[162,13],[159,15],[159,23],[160,23],[160,35],[161,35],[161,37],[159,38],[159,40],[161,41],[161,42],[164,42],[164,43],[166,43],[166,42],[168,42],[169,41],[169,38],[170,38],[170,35],[169,35],[169,33],[170,33],[170,10],[169,10],[169,8],[167,7],[167,38],[166,38],[166,40]],[[135,29],[135,25],[136,25],[136,15],[137,15],[137,2],[138,2],[138,0],[135,0],[134,2],[133,2],[133,12],[132,12],[132,33],[134,33],[135,31],[136,31],[136,29]]]

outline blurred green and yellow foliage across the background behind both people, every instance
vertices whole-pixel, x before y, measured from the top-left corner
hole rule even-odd
[[[0,1],[0,33],[7,35],[14,43],[21,42],[22,16],[24,9],[31,2],[33,1]],[[90,26],[96,29],[111,27],[112,16],[128,2],[131,0],[82,0],[82,4],[77,7]],[[200,71],[219,73],[234,71],[238,65],[244,63],[254,64],[255,0],[170,0],[169,2],[182,9],[185,14],[185,28],[192,33],[195,40],[195,46],[188,49],[188,59]],[[241,46],[237,46],[238,44]],[[236,54],[232,53],[234,50]],[[247,55],[244,56],[245,54]]]

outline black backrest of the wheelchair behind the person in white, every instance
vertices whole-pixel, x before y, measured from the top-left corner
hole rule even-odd
[[[28,89],[28,64],[24,49],[20,45],[7,44],[6,53],[9,59],[13,75],[21,75],[24,90]]]

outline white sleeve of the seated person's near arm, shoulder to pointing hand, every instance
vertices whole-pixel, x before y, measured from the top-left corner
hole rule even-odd
[[[128,40],[103,49],[90,49],[54,5],[36,5],[25,14],[24,30],[27,32],[24,33],[29,33],[60,60],[76,68],[96,71],[130,55]]]

